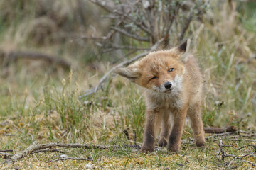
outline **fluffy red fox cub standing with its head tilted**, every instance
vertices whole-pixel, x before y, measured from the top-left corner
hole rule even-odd
[[[159,146],[181,149],[186,116],[191,120],[198,147],[206,143],[201,118],[202,76],[196,59],[188,53],[190,40],[171,50],[151,52],[116,73],[142,86],[146,101],[143,152],[153,152],[161,126]]]

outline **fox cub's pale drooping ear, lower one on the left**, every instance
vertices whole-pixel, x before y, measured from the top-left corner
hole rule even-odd
[[[122,77],[126,77],[132,82],[135,82],[136,79],[140,76],[139,70],[134,65],[126,68],[119,68],[115,71],[115,73],[119,74]]]

